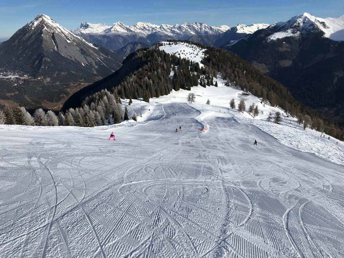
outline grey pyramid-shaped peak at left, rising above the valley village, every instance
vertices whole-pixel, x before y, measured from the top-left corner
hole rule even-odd
[[[106,76],[120,67],[118,59],[104,56],[99,49],[40,14],[0,45],[0,67],[33,77],[53,76],[65,70],[73,77]],[[50,74],[47,71],[52,72]]]

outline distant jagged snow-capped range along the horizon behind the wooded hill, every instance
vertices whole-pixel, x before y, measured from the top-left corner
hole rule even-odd
[[[82,23],[79,28],[71,30],[91,43],[97,43],[111,50],[118,50],[130,42],[138,41],[154,44],[167,39],[187,40],[192,35],[217,35],[228,30],[226,25],[209,26],[204,23],[186,23],[175,25],[155,25],[138,22],[128,26],[121,22],[107,26],[105,24]]]

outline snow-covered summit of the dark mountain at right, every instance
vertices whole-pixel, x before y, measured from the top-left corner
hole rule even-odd
[[[286,22],[272,24],[271,28],[277,32],[270,35],[269,40],[299,36],[314,31],[321,31],[324,37],[332,40],[344,40],[344,14],[336,18],[319,18],[305,12]]]

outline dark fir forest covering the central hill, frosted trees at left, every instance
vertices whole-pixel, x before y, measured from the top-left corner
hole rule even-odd
[[[177,42],[170,41],[168,44],[177,44]],[[129,119],[126,108],[123,109],[121,105],[121,99],[129,99],[130,105],[132,99],[149,102],[151,97],[168,95],[172,89],[177,91],[191,90],[191,87],[195,86],[216,87],[217,82],[214,83],[214,77],[220,75],[227,80],[227,86],[251,92],[259,97],[264,105],[280,107],[287,115],[297,117],[302,123],[305,121],[306,128],[308,126],[316,130],[326,128],[327,134],[340,140],[344,139],[344,132],[338,125],[322,119],[314,110],[304,107],[283,85],[260,73],[237,55],[215,47],[195,45],[207,48],[205,58],[202,60],[204,67],[200,67],[197,62],[161,51],[157,45],[144,49],[145,54],[141,56],[142,65],[138,70],[127,75],[110,91],[103,89],[87,97],[82,107],[70,108],[65,113],[60,112],[58,116],[52,111],[45,113],[42,109],[37,109],[32,118],[23,107],[10,111],[7,106],[4,112],[0,111],[0,123],[85,127],[120,123],[124,119]],[[191,45],[191,47],[196,51],[195,46]],[[135,53],[127,58],[132,58],[133,55]],[[173,75],[172,80],[171,75]],[[256,107],[252,108],[256,109]],[[251,110],[252,108],[249,113],[256,116],[257,110]],[[240,111],[246,108],[242,109],[240,106]]]

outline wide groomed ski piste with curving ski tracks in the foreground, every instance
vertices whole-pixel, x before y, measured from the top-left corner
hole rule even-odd
[[[118,127],[1,130],[1,257],[344,257],[342,165],[259,120],[147,105]]]

